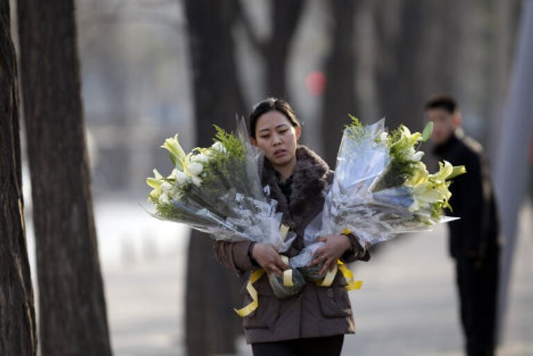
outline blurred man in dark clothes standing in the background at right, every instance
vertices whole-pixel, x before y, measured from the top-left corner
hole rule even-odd
[[[455,100],[434,97],[425,104],[425,118],[434,123],[434,154],[466,175],[450,186],[450,254],[455,260],[466,355],[492,356],[496,348],[498,295],[498,214],[482,147],[464,135]]]

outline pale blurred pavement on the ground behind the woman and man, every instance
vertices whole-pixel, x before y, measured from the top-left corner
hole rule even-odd
[[[533,215],[525,213],[500,356],[533,355]],[[352,265],[364,285],[350,292],[357,333],[346,337],[343,355],[462,355],[446,251],[441,226],[386,242],[370,262]],[[184,257],[182,241],[135,262],[104,263],[115,355],[183,355]],[[244,341],[238,345],[239,355],[251,355]]]

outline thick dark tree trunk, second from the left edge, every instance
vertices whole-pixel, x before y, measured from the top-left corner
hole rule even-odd
[[[43,356],[111,355],[74,1],[18,1]]]

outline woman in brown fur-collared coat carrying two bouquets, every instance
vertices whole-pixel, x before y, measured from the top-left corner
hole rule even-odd
[[[298,145],[301,125],[283,100],[268,98],[258,103],[250,115],[251,142],[264,152],[262,183],[270,186],[271,197],[278,201],[282,223],[297,235],[284,254],[296,256],[303,249],[305,226],[323,208],[323,190],[332,182],[333,172],[312,150]],[[310,266],[323,262],[321,273],[332,269],[337,259],[343,262],[368,260],[353,235],[330,235],[321,238],[323,247],[316,250]],[[262,268],[267,274],[288,269],[271,244],[255,242],[214,242],[221,262],[244,274]],[[340,355],[344,334],[354,332],[346,281],[339,273],[330,287],[306,283],[287,299],[273,295],[267,276],[254,287],[259,308],[244,318],[246,341],[253,355]],[[249,302],[246,290],[242,291]]]

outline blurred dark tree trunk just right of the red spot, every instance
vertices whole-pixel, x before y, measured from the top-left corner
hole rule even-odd
[[[354,42],[357,1],[334,0],[330,7],[332,47],[325,62],[322,133],[324,159],[334,168],[344,125],[350,122],[348,114],[357,116]]]

